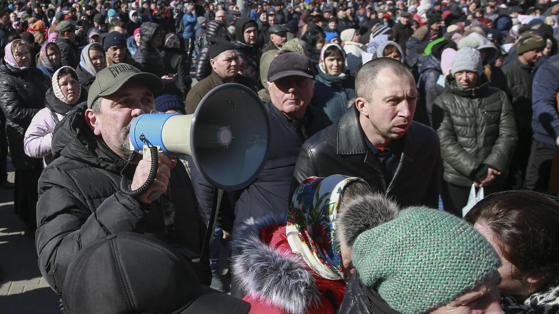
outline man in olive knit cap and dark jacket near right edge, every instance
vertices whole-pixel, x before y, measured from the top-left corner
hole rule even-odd
[[[534,63],[543,55],[546,40],[534,34],[523,37],[517,47],[518,55],[511,63],[503,66],[518,131],[518,145],[510,163],[509,178],[505,182],[505,189],[513,190],[524,188],[530,158],[528,148],[532,146],[532,80],[536,74]]]

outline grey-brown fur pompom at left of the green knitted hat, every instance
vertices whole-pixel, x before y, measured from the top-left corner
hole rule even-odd
[[[343,204],[338,211],[336,229],[342,250],[351,250],[353,242],[363,231],[398,216],[400,206],[381,193],[357,196]]]

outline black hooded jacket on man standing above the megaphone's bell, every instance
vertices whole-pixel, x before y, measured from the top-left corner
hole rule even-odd
[[[260,86],[260,72],[259,72],[259,61],[260,55],[258,54],[258,46],[256,44],[249,45],[244,40],[243,28],[248,23],[254,23],[254,26],[258,28],[258,24],[248,17],[239,18],[235,24],[235,49],[239,58],[242,58],[244,64],[247,65],[247,78],[250,82],[259,89]]]

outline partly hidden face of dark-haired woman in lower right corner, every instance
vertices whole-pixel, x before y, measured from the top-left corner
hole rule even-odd
[[[503,263],[503,265],[501,265],[498,269],[499,274],[501,275],[501,282],[497,287],[500,294],[528,297],[530,294],[537,291],[539,284],[537,282],[534,283],[533,279],[528,278],[527,275],[520,272],[517,267],[504,258],[504,256],[500,253],[503,245],[495,238],[491,230],[487,229],[484,223],[477,221],[473,225],[473,229],[480,232],[480,234],[487,239],[487,242],[491,243],[501,258],[501,263]],[[532,283],[530,283],[530,281],[532,281]]]

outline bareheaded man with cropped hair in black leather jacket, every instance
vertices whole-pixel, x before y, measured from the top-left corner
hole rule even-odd
[[[292,191],[312,175],[359,177],[402,206],[438,207],[440,146],[435,131],[413,121],[415,80],[396,59],[359,70],[354,106],[301,148]]]

